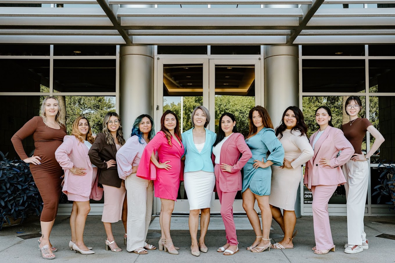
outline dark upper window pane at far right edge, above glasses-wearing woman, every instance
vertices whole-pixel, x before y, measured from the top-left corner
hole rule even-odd
[[[395,91],[395,60],[369,60],[369,92]]]

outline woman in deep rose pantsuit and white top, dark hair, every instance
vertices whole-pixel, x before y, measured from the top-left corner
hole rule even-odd
[[[237,132],[233,114],[222,114],[218,127],[217,138],[213,145],[215,157],[215,187],[221,203],[221,216],[225,225],[226,244],[218,248],[230,256],[239,251],[235,222],[233,221],[233,201],[237,191],[242,188],[241,168],[252,157],[244,136]],[[240,157],[240,154],[242,156]]]

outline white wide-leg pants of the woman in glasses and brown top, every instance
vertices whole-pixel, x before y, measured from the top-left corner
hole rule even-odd
[[[348,244],[361,245],[366,239],[363,216],[369,183],[369,163],[349,160],[343,165],[344,184],[347,198]]]

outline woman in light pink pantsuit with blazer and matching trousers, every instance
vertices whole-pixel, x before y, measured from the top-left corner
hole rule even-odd
[[[350,142],[340,129],[333,127],[331,119],[332,113],[328,107],[321,106],[316,110],[316,122],[320,129],[310,137],[314,156],[306,163],[304,178],[305,186],[311,189],[313,194],[316,246],[312,250],[315,254],[335,251],[329,225],[328,202],[337,186],[346,183],[341,166],[350,160],[354,153]]]

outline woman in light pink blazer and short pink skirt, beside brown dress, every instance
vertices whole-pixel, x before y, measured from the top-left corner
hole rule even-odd
[[[90,211],[89,198],[101,200],[103,189],[97,187],[97,168],[88,157],[94,142],[88,120],[85,117],[75,119],[71,134],[64,136],[63,143],[55,151],[55,158],[64,169],[62,191],[73,201],[69,247],[81,254],[93,254],[92,248],[85,246],[83,233]]]

